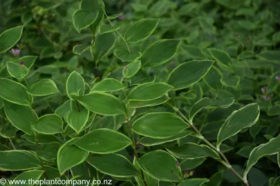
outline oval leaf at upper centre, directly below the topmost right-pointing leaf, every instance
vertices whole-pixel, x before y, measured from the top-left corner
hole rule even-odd
[[[142,55],[143,66],[153,67],[167,63],[175,56],[180,43],[178,39],[161,39],[152,43]]]

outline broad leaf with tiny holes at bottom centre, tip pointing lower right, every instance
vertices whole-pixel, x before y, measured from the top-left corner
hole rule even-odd
[[[165,151],[155,150],[144,154],[138,161],[140,168],[157,180],[178,182],[181,169],[176,166],[176,158]]]

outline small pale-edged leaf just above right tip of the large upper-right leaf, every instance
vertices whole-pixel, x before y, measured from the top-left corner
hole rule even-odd
[[[209,48],[208,51],[212,54],[212,57],[217,61],[218,65],[221,65],[221,67],[229,68],[232,65],[232,58],[223,50]]]

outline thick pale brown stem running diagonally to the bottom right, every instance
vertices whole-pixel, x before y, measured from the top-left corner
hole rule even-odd
[[[207,141],[207,139],[199,132],[199,130],[194,126],[194,124],[192,122],[189,122],[189,119],[182,113],[180,112],[180,110],[177,107],[174,107],[172,105],[170,105],[169,103],[167,103],[169,106],[171,106],[176,112],[178,112],[178,114],[180,114],[180,116],[182,116],[183,119],[185,119],[185,121],[187,121],[187,124],[192,127],[192,129],[199,135],[200,139],[202,139],[207,145],[209,145],[209,147],[212,147],[212,149],[214,149],[216,152],[218,152],[218,154],[220,154],[222,156],[222,158],[224,159],[224,161],[219,161],[220,163],[222,163],[223,165],[225,165],[225,167],[227,167],[228,169],[230,169],[232,171],[233,174],[235,174],[240,180],[242,180],[242,182],[246,185],[246,186],[250,186],[248,184],[248,182],[246,182],[242,176],[239,175],[238,172],[236,172],[236,170],[234,168],[232,168],[232,165],[230,165],[230,162],[227,160],[227,158],[225,157],[225,154],[223,154],[223,152],[221,152],[221,150],[217,149],[214,145],[212,145],[212,143],[210,143],[209,141]]]

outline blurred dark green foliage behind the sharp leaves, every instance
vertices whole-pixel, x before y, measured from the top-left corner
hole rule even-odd
[[[193,59],[212,59],[209,48],[227,52],[230,68],[216,65],[194,87],[185,92],[177,91],[175,104],[187,113],[189,107],[204,96],[227,98],[233,96],[238,103],[228,109],[203,111],[196,118],[200,132],[209,141],[216,140],[218,128],[234,110],[242,105],[257,102],[261,107],[259,122],[226,141],[223,151],[236,169],[245,165],[248,156],[257,145],[266,143],[279,134],[280,101],[280,1],[277,0],[104,0],[106,12],[115,17],[112,23],[124,34],[132,23],[143,18],[160,18],[158,28],[149,39],[131,43],[131,48],[143,52],[158,39],[182,39],[180,48],[172,61],[153,68],[140,70],[134,83],[166,81],[171,70],[180,63]],[[24,34],[17,44],[20,56],[39,56],[28,83],[42,77],[53,79],[62,94],[39,97],[34,101],[36,112],[53,113],[66,101],[65,83],[69,73],[77,70],[86,82],[100,81],[105,77],[122,79],[124,63],[113,55],[113,50],[95,63],[90,50],[73,54],[73,47],[91,43],[90,28],[79,34],[73,26],[73,12],[79,8],[77,0],[5,0],[0,1],[0,32],[17,25],[25,25]],[[122,13],[122,14],[120,14]],[[104,23],[107,23],[106,17]],[[120,37],[114,48],[125,46]],[[114,49],[113,48],[113,49]],[[0,77],[6,77],[6,61],[12,54],[0,54]],[[182,74],[191,76],[192,74]],[[1,87],[0,87],[1,88]],[[263,89],[262,89],[263,88]],[[166,111],[167,107],[153,107]],[[139,115],[151,112],[150,107],[140,108]],[[3,110],[1,111],[3,112]],[[133,119],[136,119],[133,118]],[[119,122],[122,124],[122,122]],[[211,125],[210,125],[211,124]],[[182,138],[197,141],[196,138]],[[160,146],[160,145],[159,145]],[[151,151],[155,148],[146,149]],[[279,160],[278,160],[279,161]],[[249,174],[252,186],[268,185],[268,178],[279,176],[277,155],[263,158]],[[198,165],[194,177],[209,178],[218,169],[214,161],[207,160]],[[242,185],[234,175],[225,171],[226,183]]]

